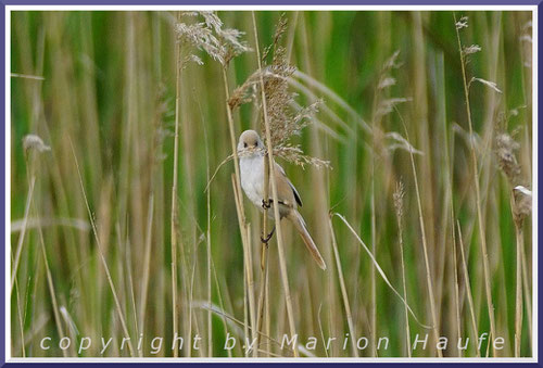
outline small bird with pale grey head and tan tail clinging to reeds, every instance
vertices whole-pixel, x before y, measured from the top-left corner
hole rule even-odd
[[[256,206],[261,207],[261,210],[273,207],[272,178],[268,199],[264,199],[264,144],[256,131],[245,130],[241,134],[238,143],[238,153],[240,154],[241,188],[243,188],[245,195]],[[294,224],[294,228],[302,237],[313,258],[320,268],[326,269],[325,259],[323,259],[315,242],[310,236],[302,215],[298,212],[298,206],[302,206],[302,199],[292,182],[287,178],[282,167],[275,162],[274,164],[279,216],[281,219],[287,218]],[[274,212],[268,212],[268,216],[273,218]]]

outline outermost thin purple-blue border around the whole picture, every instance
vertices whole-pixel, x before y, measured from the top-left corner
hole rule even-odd
[[[108,0],[84,0],[84,1],[80,1],[78,3],[75,3],[74,0],[51,0],[51,1],[46,1],[46,0],[23,0],[23,1],[16,1],[16,0],[8,0],[8,1],[4,1],[4,0],[0,0],[0,49],[1,49],[1,58],[0,58],[0,68],[1,68],[1,72],[0,72],[0,80],[1,80],[1,91],[0,91],[0,96],[1,96],[1,103],[0,103],[0,114],[2,116],[2,118],[5,116],[5,74],[4,74],[4,69],[5,69],[5,53],[4,53],[4,50],[5,50],[5,25],[4,25],[4,18],[5,18],[5,5],[31,5],[31,4],[36,4],[36,5],[61,5],[61,4],[78,4],[78,5],[83,5],[83,4],[94,4],[94,5],[122,5],[122,4],[126,4],[126,5],[129,5],[129,4],[134,4],[134,5],[144,5],[144,4],[149,4],[149,5],[179,5],[179,4],[187,4],[187,5],[202,5],[202,4],[206,4],[206,5],[241,5],[241,4],[248,4],[248,5],[256,5],[256,4],[260,4],[260,5],[264,5],[264,4],[274,4],[274,5],[302,5],[302,4],[313,4],[313,5],[316,5],[316,4],[334,4],[334,5],[370,5],[370,4],[376,4],[376,5],[396,5],[396,4],[403,4],[403,5],[422,5],[422,4],[435,4],[435,5],[463,5],[463,4],[470,4],[470,5],[475,5],[475,4],[479,4],[479,5],[504,5],[504,4],[510,4],[510,5],[538,5],[538,24],[539,24],[539,30],[538,30],[538,36],[539,36],[539,39],[543,39],[542,38],[542,34],[543,34],[543,15],[542,15],[542,12],[543,12],[543,7],[542,7],[542,3],[543,3],[543,0],[517,0],[516,2],[512,2],[510,0],[476,0],[476,1],[469,1],[469,0],[459,0],[459,1],[452,1],[452,0],[442,0],[442,1],[431,1],[431,0],[386,0],[386,1],[377,1],[377,0],[369,0],[369,1],[362,1],[362,0],[337,0],[334,1],[333,3],[331,3],[331,0],[260,0],[260,1],[256,1],[256,0],[230,0],[228,2],[226,1],[219,1],[219,0],[204,0],[204,1],[197,1],[197,0],[186,0],[186,1],[175,1],[175,0],[157,0],[155,2],[150,2],[150,0],[113,0],[113,1],[108,1]],[[542,55],[542,52],[541,52],[541,49],[538,50],[538,56],[539,56],[539,60],[543,60],[543,55]],[[539,79],[538,79],[538,87],[539,87],[539,91],[542,91],[542,83],[541,83],[541,74],[539,75]],[[542,99],[540,98],[540,101]],[[540,102],[538,101],[538,102]],[[540,114],[541,116],[541,114]],[[541,117],[539,118],[539,122],[538,122],[538,125],[540,127],[540,131],[539,131],[539,135],[536,137],[538,139],[538,142],[539,142],[539,139],[541,138],[541,130],[542,130],[542,126],[539,124],[541,120]],[[7,122],[4,120],[4,124]],[[2,189],[2,194],[0,195],[0,202],[2,204],[2,210],[5,208],[5,196],[4,196],[4,192],[5,192],[5,157],[4,157],[4,141],[5,141],[5,129],[3,128],[1,130],[1,134],[0,134],[0,139],[1,139],[1,147],[2,147],[2,151],[1,151],[1,160],[0,160],[0,170],[2,173],[2,181],[1,181],[1,189]],[[535,165],[538,165],[538,161],[534,161]],[[538,179],[541,179],[541,176],[539,176]],[[5,239],[5,231],[7,229],[3,227],[3,224],[5,223],[5,212],[2,211],[1,212],[1,215],[0,215],[0,219],[2,221],[2,226],[1,226],[1,236],[2,238],[1,239]],[[540,224],[538,224],[539,226]],[[5,244],[8,245],[8,244]],[[539,244],[534,244],[534,246],[538,246]],[[5,253],[4,253],[4,250],[2,250],[0,252],[0,272],[1,272],[1,278],[2,278],[2,282],[0,282],[0,293],[1,295],[5,295],[5,283],[4,283],[4,280],[3,280],[3,277],[5,275]],[[541,264],[542,263],[542,259],[543,259],[543,250],[541,250],[539,252],[539,257],[538,257],[538,264]],[[542,279],[543,279],[543,276],[542,276],[543,272],[540,272],[539,274],[539,282],[541,284],[542,282]],[[27,363],[24,363],[24,364],[15,364],[15,363],[11,363],[11,364],[7,364],[5,363],[5,352],[4,352],[4,332],[5,332],[5,319],[4,319],[4,314],[5,314],[5,305],[4,303],[0,303],[0,314],[1,314],[1,317],[0,317],[0,330],[1,330],[1,335],[0,335],[0,367],[3,367],[3,366],[7,366],[9,365],[10,367],[13,366],[13,367],[34,367],[36,365],[39,365],[39,366],[43,366],[43,367],[58,367],[59,364],[58,363],[47,363],[47,364],[27,364]],[[539,319],[539,330],[542,329],[542,322],[541,322],[541,318]],[[541,353],[543,350],[543,343],[542,343],[542,339],[539,339],[539,352]],[[445,360],[446,361],[446,360]],[[233,360],[232,361],[233,364],[238,363],[238,364],[241,364],[240,361],[236,361]],[[187,361],[184,361],[182,364],[184,365],[189,365],[189,366],[207,366],[207,365],[213,365],[215,367],[226,367],[228,365],[231,365],[232,363],[187,363]],[[103,363],[103,364],[100,364],[100,365],[104,365],[104,366],[109,366],[109,367],[114,367],[114,366],[117,366],[117,365],[122,365],[122,366],[128,366],[128,365],[132,365],[134,363]],[[165,363],[165,364],[172,364],[172,363]],[[303,363],[303,359],[301,359],[301,363],[292,363],[292,364],[304,364],[304,365],[310,365],[310,366],[314,366],[314,367],[324,367],[325,365],[330,365],[330,363]],[[397,365],[401,365],[401,364],[405,364],[407,365],[408,363],[366,363],[366,365],[369,365],[369,366],[379,366],[379,367],[392,367],[392,366],[397,366]],[[452,363],[450,363],[452,364]],[[493,363],[462,363],[462,366],[463,367],[475,367],[475,366],[489,366]],[[98,363],[64,363],[62,364],[62,366],[67,366],[67,367],[71,367],[71,366],[81,366],[81,365],[86,365],[86,366],[93,366],[93,365],[99,365]],[[159,363],[141,363],[141,365],[144,365],[144,366],[148,366],[148,367],[151,367],[151,366],[155,366],[155,365],[159,365]],[[279,363],[243,363],[243,365],[248,365],[248,366],[256,366],[256,365],[266,365],[268,367],[280,367],[280,366],[283,366],[285,364],[279,364]],[[351,366],[353,365],[352,363],[333,363],[334,366],[343,366],[343,367],[346,367],[346,366]],[[438,367],[438,365],[440,365],[440,363],[428,363],[428,364],[425,364],[425,366],[429,366],[429,367]],[[457,364],[452,364],[452,365],[460,365],[459,363]],[[500,364],[500,367],[503,367],[503,368],[508,368],[508,367],[517,367],[518,366],[518,363],[503,363],[503,364]],[[543,365],[541,363],[531,363],[531,364],[526,364],[526,366],[530,366],[530,367],[543,367]]]

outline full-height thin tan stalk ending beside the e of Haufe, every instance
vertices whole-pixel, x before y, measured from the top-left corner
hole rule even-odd
[[[471,109],[469,106],[469,86],[466,76],[466,54],[464,53],[464,49],[460,41],[460,33],[459,29],[467,27],[467,16],[463,16],[459,22],[456,21],[456,14],[454,14],[454,23],[456,25],[456,39],[458,41],[458,50],[460,54],[460,66],[462,66],[462,78],[464,83],[464,97],[466,99],[466,114],[468,117],[468,126],[469,126],[469,136],[473,136],[473,124],[471,122]],[[492,288],[490,284],[490,265],[489,265],[489,254],[487,250],[487,234],[484,231],[484,223],[482,217],[482,199],[481,199],[481,190],[479,185],[479,166],[477,163],[477,154],[475,149],[473,140],[469,140],[469,151],[471,155],[471,169],[473,173],[473,181],[475,181],[475,194],[476,194],[476,206],[477,206],[477,223],[479,225],[479,240],[481,245],[482,253],[482,264],[484,271],[484,290],[487,295],[487,307],[489,310],[489,319],[490,319],[490,333],[492,339],[496,337],[496,327],[495,327],[495,318],[494,318],[494,304],[492,303]],[[495,356],[494,344],[492,345],[492,350]]]

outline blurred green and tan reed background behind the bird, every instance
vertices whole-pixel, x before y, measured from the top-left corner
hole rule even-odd
[[[256,12],[261,50],[273,41],[280,15],[280,12]],[[103,356],[130,356],[126,346],[122,348],[125,332],[131,337],[135,356],[140,334],[142,356],[173,355],[169,211],[177,16],[175,12],[11,13],[12,261],[21,244],[11,294],[13,356],[102,356],[101,337],[106,341],[113,338]],[[243,38],[254,50],[251,12],[218,12],[218,16],[225,26],[244,31]],[[505,339],[504,350],[489,352],[514,356],[517,256],[512,188],[498,168],[494,141],[496,131],[505,131],[518,142],[514,154],[525,187],[531,188],[532,14],[456,14],[458,20],[468,16],[468,27],[459,29],[462,45],[481,48],[467,55],[467,80],[482,78],[495,83],[501,90],[498,93],[478,81],[470,85],[472,136],[452,12],[312,11],[287,12],[286,16],[288,29],[282,43],[290,63],[303,73],[292,78],[291,88],[299,93],[296,102],[308,105],[317,99],[324,100],[313,124],[294,137],[293,142],[300,143],[305,153],[331,164],[330,169],[312,166],[301,169],[278,160],[302,195],[301,213],[328,265],[328,270],[321,271],[294,229],[283,225],[300,342],[316,337],[317,348],[310,351],[315,356],[354,354],[350,343],[342,347],[349,327],[328,226],[329,212],[349,220],[402,293],[393,200],[399,181],[405,190],[401,227],[406,299],[417,318],[432,325],[414,173],[409,150],[406,141],[399,139],[400,135],[421,152],[413,156],[420,188],[437,329],[450,340],[444,356],[459,353],[477,356],[459,246],[466,252],[477,330],[479,334],[490,332],[470,161],[473,140],[496,334]],[[181,22],[193,21],[181,16]],[[206,204],[209,178],[231,154],[226,94],[222,66],[201,51],[180,47],[181,52],[194,53],[203,61],[203,65],[188,63],[178,80],[179,206],[174,231],[179,238],[178,329],[186,339],[180,355],[227,356],[223,348],[227,332],[243,339],[251,287],[244,282],[231,163],[223,166],[210,185],[211,213]],[[394,67],[383,69],[396,51]],[[256,69],[254,51],[232,60],[227,68],[229,90]],[[378,88],[383,75],[394,83]],[[390,111],[380,114],[379,107],[392,98],[408,101],[392,103]],[[236,137],[244,129],[260,129],[255,105],[236,110],[233,119]],[[51,150],[25,153],[23,138],[28,134],[41,137]],[[96,221],[96,237],[81,186]],[[260,212],[249,201],[245,212],[252,229],[252,269],[258,276]],[[207,216],[211,266],[205,246]],[[455,230],[456,220],[462,229],[462,243]],[[406,356],[402,301],[375,274],[370,258],[345,225],[338,217],[332,218],[332,224],[354,330],[357,338],[370,341],[357,354]],[[523,227],[521,355],[531,356],[530,217]],[[264,325],[269,337],[280,342],[289,329],[275,240],[269,250],[269,308]],[[101,253],[111,272],[111,283]],[[215,312],[223,310],[241,321],[214,313],[211,337],[209,288]],[[258,294],[257,278],[252,292]],[[428,348],[418,348],[413,356],[435,356],[431,330],[413,318],[409,329],[412,339],[417,333],[429,334]],[[190,337],[197,334],[202,338],[201,350],[190,346]],[[390,347],[371,348],[375,334],[388,337]],[[61,335],[72,339],[71,347],[64,352],[59,348]],[[465,352],[456,348],[458,335],[470,338]],[[43,337],[51,337],[50,350],[40,348]],[[78,352],[85,337],[93,339],[92,345]],[[154,337],[163,337],[164,343],[162,351],[153,355],[150,344]],[[338,340],[327,351],[328,337]],[[488,353],[487,341],[482,344],[482,356]],[[241,344],[238,342],[231,352],[233,356],[244,355]],[[263,356],[291,356],[289,350],[280,350],[266,338],[260,348]]]

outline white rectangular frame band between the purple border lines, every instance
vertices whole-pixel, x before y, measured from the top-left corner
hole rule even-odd
[[[532,12],[532,342],[533,357],[522,358],[13,358],[11,356],[11,12],[12,11],[166,11],[166,10],[217,10],[217,11],[531,11]],[[5,5],[5,361],[7,363],[538,363],[538,7],[536,5]]]

